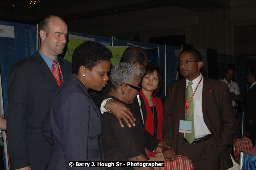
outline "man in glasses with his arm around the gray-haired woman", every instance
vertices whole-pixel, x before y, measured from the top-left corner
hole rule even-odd
[[[138,67],[142,71],[141,78],[143,78],[144,74],[146,73],[147,55],[140,48],[133,47],[133,46],[128,47],[124,51],[120,62],[129,63]],[[140,121],[140,124],[144,124],[147,113],[146,113],[146,105],[144,103],[144,100],[139,95],[139,92],[140,92],[139,87],[134,87],[130,84],[128,85],[138,90],[137,98],[135,98],[134,102],[129,105],[129,108],[126,107],[124,104],[119,103],[115,100],[104,99],[105,98],[104,95],[107,95],[111,89],[109,84],[107,84],[106,88],[103,89],[100,93],[97,93],[96,91],[91,91],[90,96],[93,99],[96,106],[100,108],[101,113],[104,113],[104,112],[113,113],[117,117],[121,127],[124,126],[121,121],[121,118],[122,118],[123,120],[125,120],[127,126],[131,128],[132,125],[135,126],[134,116],[132,113],[138,113],[137,110],[140,110],[141,115],[138,116],[140,120],[135,121],[135,122]],[[121,113],[123,116],[118,117],[117,113]],[[139,124],[139,122],[137,124]],[[160,141],[154,136],[150,135],[147,131],[146,131],[146,140],[148,141],[146,148],[150,151],[154,151],[156,147],[169,148],[169,146],[165,145],[165,143],[168,142],[169,140]]]

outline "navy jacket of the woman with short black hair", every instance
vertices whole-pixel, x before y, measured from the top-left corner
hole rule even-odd
[[[101,114],[73,74],[56,91],[41,130],[52,145],[46,169],[73,169],[69,160],[103,160]]]

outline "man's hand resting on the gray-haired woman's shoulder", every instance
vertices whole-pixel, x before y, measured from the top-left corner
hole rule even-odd
[[[113,113],[113,115],[115,115],[115,117],[117,118],[117,120],[122,128],[124,127],[124,125],[121,121],[121,118],[124,119],[125,123],[127,124],[127,126],[129,128],[131,128],[131,124],[133,126],[135,126],[134,121],[136,119],[133,116],[133,114],[131,113],[129,107],[127,107],[126,105],[124,105],[123,103],[120,103],[118,101],[110,100],[108,102],[108,108]]]

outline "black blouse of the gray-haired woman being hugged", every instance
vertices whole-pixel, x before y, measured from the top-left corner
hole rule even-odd
[[[113,96],[107,96],[125,104]],[[126,104],[125,104],[126,105]],[[128,105],[127,105],[128,106]],[[140,112],[140,110],[138,111]],[[137,115],[134,117],[139,120]],[[105,160],[128,160],[128,158],[144,155],[146,138],[144,125],[136,121],[136,126],[129,128],[123,121],[124,128],[121,128],[117,118],[108,112],[103,113],[102,133],[100,136]]]

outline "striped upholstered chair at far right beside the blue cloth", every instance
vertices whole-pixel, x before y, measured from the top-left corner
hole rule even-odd
[[[242,136],[242,138],[236,138],[233,141],[233,150],[236,163],[239,164],[239,153],[242,151],[244,154],[250,154],[253,149],[253,143],[251,139],[246,136]]]

